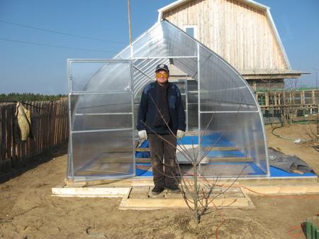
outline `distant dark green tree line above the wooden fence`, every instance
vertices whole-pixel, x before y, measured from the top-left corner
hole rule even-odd
[[[66,94],[45,95],[33,93],[9,93],[0,94],[0,101],[57,101],[65,97],[67,97]]]

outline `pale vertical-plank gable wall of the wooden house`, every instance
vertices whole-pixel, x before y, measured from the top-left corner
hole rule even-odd
[[[162,17],[183,30],[196,25],[197,39],[238,70],[287,68],[263,9],[240,0],[193,0]]]

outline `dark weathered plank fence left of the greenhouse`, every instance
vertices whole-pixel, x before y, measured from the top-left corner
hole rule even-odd
[[[23,106],[31,111],[34,139],[28,138],[23,143],[16,143],[13,135],[16,104],[0,104],[0,170],[11,169],[13,165],[39,155],[68,138],[67,100],[28,104],[32,106]]]

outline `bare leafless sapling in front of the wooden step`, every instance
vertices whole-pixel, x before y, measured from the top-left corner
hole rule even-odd
[[[150,97],[152,99],[152,97]],[[155,101],[152,99],[153,103],[155,104]],[[157,105],[155,104],[156,108]],[[219,107],[219,106],[218,106]],[[237,111],[240,111],[241,104],[239,104],[239,108]],[[233,187],[235,182],[237,182],[237,179],[240,177],[242,172],[245,171],[247,167],[250,166],[249,164],[245,165],[242,170],[237,174],[237,177],[235,179],[231,179],[231,182],[225,182],[224,184],[220,184],[220,176],[213,177],[213,179],[207,179],[203,174],[200,172],[201,163],[203,160],[205,160],[208,156],[208,154],[214,150],[215,145],[220,141],[221,138],[223,138],[223,135],[220,134],[213,145],[210,145],[210,147],[201,148],[203,143],[203,137],[205,135],[208,135],[208,128],[214,123],[215,114],[211,116],[209,119],[206,127],[203,129],[203,132],[201,133],[201,137],[198,137],[198,147],[194,144],[192,141],[191,148],[186,148],[186,145],[182,143],[181,140],[177,138],[177,135],[175,135],[172,130],[169,128],[168,123],[164,120],[164,116],[162,115],[162,112],[157,108],[157,111],[159,113],[159,116],[163,119],[165,122],[167,128],[169,129],[169,134],[173,135],[175,140],[177,140],[177,145],[174,145],[170,143],[168,140],[166,140],[162,135],[159,135],[155,133],[154,130],[150,126],[147,126],[147,124],[144,122],[145,127],[150,130],[150,132],[157,135],[157,137],[164,140],[167,144],[174,147],[174,149],[179,152],[181,155],[184,156],[184,158],[189,162],[189,165],[192,167],[192,172],[183,172],[183,169],[181,169],[181,165],[176,162],[176,174],[177,175],[169,175],[167,172],[164,172],[165,177],[173,177],[176,180],[177,184],[180,184],[181,189],[181,195],[189,208],[189,211],[194,216],[194,221],[196,223],[196,226],[198,226],[198,223],[201,221],[201,216],[203,216],[206,211],[208,211],[210,206],[213,206],[213,210],[217,209],[214,200],[218,198],[219,196],[225,194],[226,191],[228,191],[230,188]],[[238,115],[238,112],[237,112]],[[236,117],[233,118],[233,121],[235,123]],[[231,124],[230,126],[231,127]],[[159,158],[160,155],[157,155]],[[162,160],[162,159],[161,159]],[[176,160],[176,159],[175,159]],[[162,160],[162,165],[167,165]],[[162,173],[162,172],[161,172]],[[226,183],[228,183],[226,185]],[[216,190],[217,187],[222,190]]]

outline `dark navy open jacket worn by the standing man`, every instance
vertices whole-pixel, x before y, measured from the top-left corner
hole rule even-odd
[[[174,134],[177,130],[185,131],[185,111],[181,100],[181,92],[176,84],[167,82],[167,104],[169,105],[169,128]],[[157,83],[152,82],[142,91],[140,107],[138,109],[138,130],[146,130],[147,133],[169,134],[167,126],[154,126],[157,113],[156,103]]]

